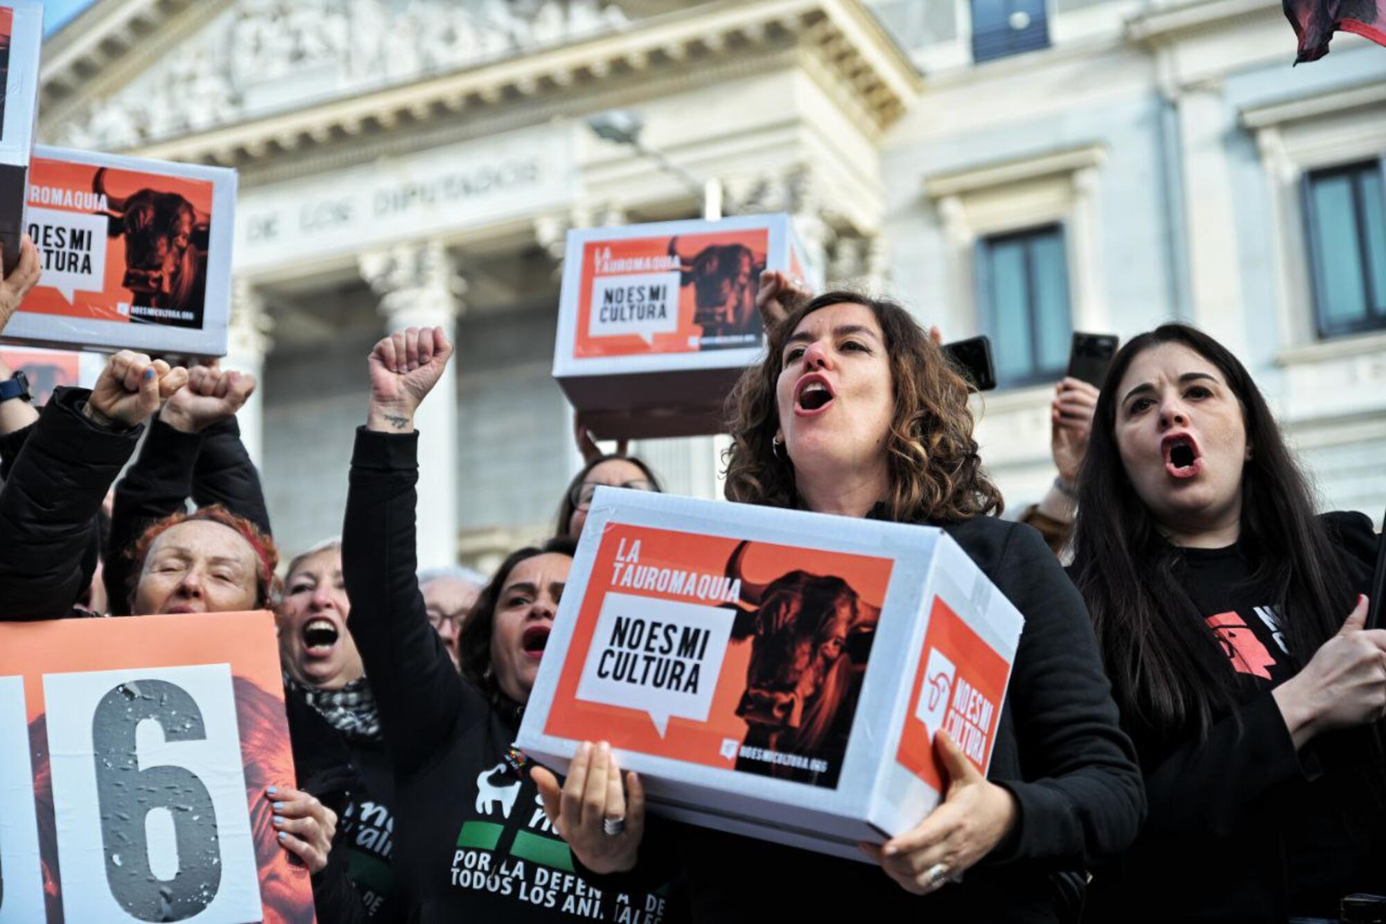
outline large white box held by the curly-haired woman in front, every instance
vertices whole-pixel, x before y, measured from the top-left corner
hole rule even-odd
[[[937,805],[938,728],[985,771],[1021,624],[937,529],[599,488],[518,745],[610,741],[653,812],[862,859]]]

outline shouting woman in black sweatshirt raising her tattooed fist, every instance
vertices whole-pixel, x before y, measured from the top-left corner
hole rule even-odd
[[[356,431],[342,565],[348,626],[371,678],[394,758],[396,888],[410,920],[615,920],[571,874],[567,845],[539,806],[513,741],[529,698],[568,567],[571,538],[513,552],[462,633],[462,676],[428,624],[416,577],[414,411],[442,375],[452,344],[410,329],[370,354],[367,423]],[[631,895],[629,914],[650,920]],[[595,909],[595,910],[593,910]]]

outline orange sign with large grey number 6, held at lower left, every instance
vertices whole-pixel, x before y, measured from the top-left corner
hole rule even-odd
[[[312,924],[269,613],[0,623],[0,924]]]

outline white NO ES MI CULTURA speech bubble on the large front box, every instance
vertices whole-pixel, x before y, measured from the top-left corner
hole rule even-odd
[[[707,721],[736,610],[632,594],[602,601],[578,699],[650,716]]]

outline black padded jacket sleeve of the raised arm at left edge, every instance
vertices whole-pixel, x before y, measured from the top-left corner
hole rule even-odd
[[[91,423],[82,415],[89,395],[57,388],[39,420],[0,445],[8,466],[0,488],[0,619],[68,616],[91,583],[101,501],[144,427]]]

